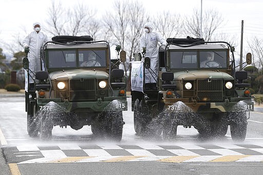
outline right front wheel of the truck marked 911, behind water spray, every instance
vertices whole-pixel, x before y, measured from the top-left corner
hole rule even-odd
[[[238,116],[238,115],[235,115]],[[242,142],[246,139],[248,122],[246,112],[241,113],[240,118],[230,125],[231,138],[233,141]]]

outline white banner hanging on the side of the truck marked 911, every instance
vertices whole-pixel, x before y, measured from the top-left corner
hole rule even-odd
[[[143,92],[143,62],[135,61],[132,64],[132,90]]]

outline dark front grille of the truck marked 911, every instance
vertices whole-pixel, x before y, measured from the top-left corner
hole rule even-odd
[[[197,97],[199,101],[222,101],[222,80],[197,80]]]

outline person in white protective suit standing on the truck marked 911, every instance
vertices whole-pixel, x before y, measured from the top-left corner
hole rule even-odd
[[[145,57],[149,57],[151,60],[151,69],[145,69],[145,89],[153,89],[156,90],[156,81],[158,75],[158,67],[159,67],[159,60],[158,60],[158,42],[162,45],[166,45],[165,39],[162,35],[156,31],[153,31],[153,26],[151,23],[146,23],[144,25],[144,33],[141,36],[140,40],[140,48],[146,47]],[[151,73],[149,72],[151,71]],[[154,77],[153,77],[153,76]]]

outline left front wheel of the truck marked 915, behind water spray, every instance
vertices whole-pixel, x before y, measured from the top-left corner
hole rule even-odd
[[[52,138],[53,125],[45,118],[40,121],[40,140],[50,140]]]

